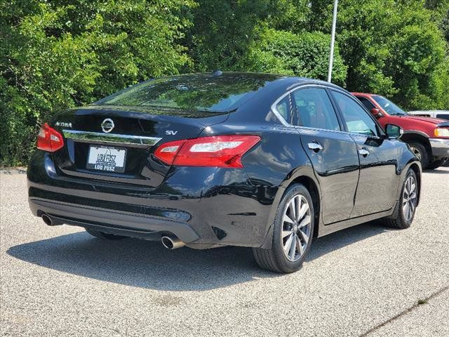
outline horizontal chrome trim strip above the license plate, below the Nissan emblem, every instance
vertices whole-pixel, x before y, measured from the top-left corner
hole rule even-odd
[[[109,143],[109,144],[125,144],[135,146],[152,146],[159,142],[162,138],[119,135],[116,133],[100,133],[91,131],[62,130],[65,138],[76,140],[81,143]]]

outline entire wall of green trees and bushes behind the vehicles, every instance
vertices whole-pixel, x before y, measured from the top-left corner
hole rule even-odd
[[[152,77],[241,70],[326,79],[331,0],[0,0],[0,162],[36,126]],[[333,81],[449,109],[449,0],[340,0]]]

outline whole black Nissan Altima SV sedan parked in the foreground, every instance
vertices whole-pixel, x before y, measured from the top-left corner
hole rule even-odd
[[[29,206],[102,239],[248,246],[261,267],[294,272],[313,237],[378,218],[410,226],[421,165],[399,136],[323,81],[154,79],[42,126]]]

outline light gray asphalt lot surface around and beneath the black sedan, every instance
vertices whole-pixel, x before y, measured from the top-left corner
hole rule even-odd
[[[292,275],[258,269],[250,249],[48,227],[25,172],[0,179],[1,336],[449,336],[449,168],[424,173],[413,227],[317,239]]]

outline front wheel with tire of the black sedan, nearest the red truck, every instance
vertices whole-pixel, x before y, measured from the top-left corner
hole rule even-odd
[[[408,169],[406,179],[402,186],[401,199],[399,199],[398,211],[394,218],[385,218],[384,223],[389,227],[400,230],[410,227],[415,217],[417,206],[418,184],[415,171]]]

